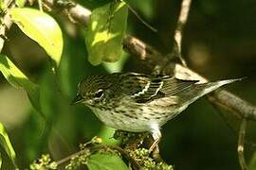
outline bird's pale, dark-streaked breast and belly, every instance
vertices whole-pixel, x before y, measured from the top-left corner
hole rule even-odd
[[[153,124],[161,127],[184,110],[177,110],[175,105],[172,105],[171,102],[167,104],[167,102],[155,100],[147,104],[137,104],[129,100],[123,100],[116,106],[90,108],[101,122],[108,127],[141,132],[150,131]]]

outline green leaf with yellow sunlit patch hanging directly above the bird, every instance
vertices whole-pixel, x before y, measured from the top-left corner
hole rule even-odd
[[[122,51],[128,8],[122,2],[111,2],[92,11],[85,31],[85,43],[91,64],[117,61]]]

